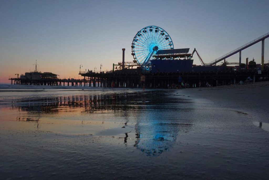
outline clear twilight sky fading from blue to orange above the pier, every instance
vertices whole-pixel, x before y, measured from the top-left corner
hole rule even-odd
[[[0,0],[0,82],[38,69],[79,78],[82,69],[111,70],[132,61],[143,27],[159,26],[174,47],[197,49],[207,63],[269,32],[269,1],[12,1]],[[261,42],[242,51],[261,62]],[[239,53],[226,59],[239,62]],[[269,60],[269,39],[264,61]],[[200,65],[194,56],[194,64]]]

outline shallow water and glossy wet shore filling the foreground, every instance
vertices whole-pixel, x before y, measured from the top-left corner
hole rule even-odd
[[[182,91],[0,92],[3,179],[267,179],[268,131]],[[264,126],[265,127],[265,126]]]

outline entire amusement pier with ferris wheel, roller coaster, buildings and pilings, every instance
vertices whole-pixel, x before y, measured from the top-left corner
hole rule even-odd
[[[145,88],[178,88],[178,77],[189,87],[218,86],[242,82],[268,81],[269,64],[264,63],[264,40],[266,33],[253,41],[209,62],[205,63],[194,48],[175,49],[169,34],[158,26],[147,26],[136,33],[131,44],[131,62],[125,62],[125,49],[122,49],[122,61],[113,64],[111,71],[79,71],[83,79],[59,79],[51,72],[33,72],[19,74],[10,78],[11,84],[48,85],[48,86],[93,86],[115,88],[140,87],[140,76],[145,76]],[[261,64],[255,60],[241,60],[244,49],[260,42]],[[193,55],[197,54],[201,65],[193,64]],[[226,59],[239,53],[238,62],[228,63]],[[217,63],[220,63],[218,64]],[[228,66],[229,65],[229,66]],[[232,65],[232,66],[231,66]],[[251,79],[251,80],[250,80]]]

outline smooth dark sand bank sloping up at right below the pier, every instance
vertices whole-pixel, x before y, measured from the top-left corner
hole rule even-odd
[[[258,121],[269,123],[269,82],[183,89],[195,98],[212,101],[216,106],[247,111]]]

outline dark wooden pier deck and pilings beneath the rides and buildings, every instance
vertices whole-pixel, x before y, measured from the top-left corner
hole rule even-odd
[[[80,71],[79,75],[83,79],[20,79],[10,78],[11,84],[21,85],[47,85],[47,86],[92,86],[92,87],[108,87],[111,88],[114,81],[115,88],[137,88],[140,87],[140,69],[124,69],[114,72],[91,72]],[[176,85],[178,87],[178,76],[183,78],[183,83],[188,83],[190,87],[206,86],[206,83],[213,86],[236,84],[239,81],[245,81],[247,77],[251,77],[253,81],[268,80],[269,72],[262,71],[258,74],[257,70],[241,70],[240,72],[232,69],[225,71],[212,72],[156,72],[145,73],[146,88],[167,88],[168,85]]]

